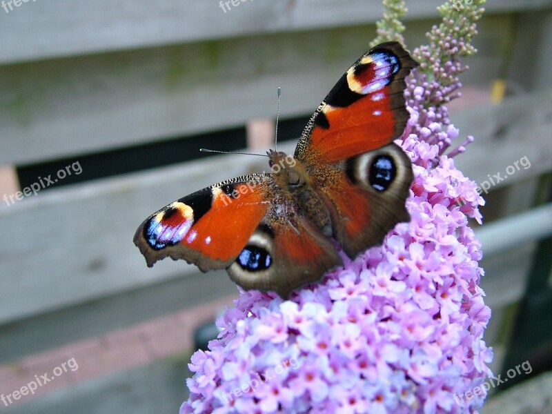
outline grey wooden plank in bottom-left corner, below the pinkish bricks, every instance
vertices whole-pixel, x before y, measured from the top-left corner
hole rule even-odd
[[[12,404],[6,414],[175,414],[188,397],[188,355],[113,373]]]

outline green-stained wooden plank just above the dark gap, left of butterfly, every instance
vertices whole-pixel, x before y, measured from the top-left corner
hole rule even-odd
[[[411,45],[425,41],[431,24],[414,23]],[[489,17],[485,41],[499,43],[510,26],[510,17]],[[244,126],[275,115],[279,86],[282,119],[310,115],[374,32],[359,26],[0,66],[0,165]],[[491,83],[502,60],[482,51],[462,81]]]

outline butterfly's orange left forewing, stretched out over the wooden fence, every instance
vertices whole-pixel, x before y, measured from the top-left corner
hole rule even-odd
[[[150,215],[134,237],[148,266],[172,257],[201,270],[228,267],[266,216],[269,177],[258,174],[223,181]]]

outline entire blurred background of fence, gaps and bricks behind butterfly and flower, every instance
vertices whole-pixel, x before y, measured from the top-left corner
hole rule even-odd
[[[0,395],[55,379],[0,412],[177,413],[194,335],[237,290],[225,272],[147,268],[135,229],[194,190],[267,169],[199,148],[273,145],[278,87],[278,136],[292,152],[383,10],[379,0],[221,3],[1,2]],[[413,50],[440,1],[406,3]],[[493,372],[533,368],[500,397],[552,368],[552,0],[486,10],[451,120],[475,137],[457,166],[493,182],[474,224]]]

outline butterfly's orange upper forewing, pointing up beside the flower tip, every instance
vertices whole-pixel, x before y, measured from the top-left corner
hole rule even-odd
[[[400,137],[409,117],[404,77],[416,66],[397,42],[382,43],[362,55],[311,117],[295,158],[331,164]]]

